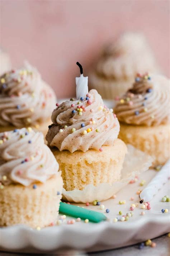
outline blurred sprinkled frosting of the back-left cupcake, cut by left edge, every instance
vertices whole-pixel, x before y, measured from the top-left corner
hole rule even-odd
[[[54,91],[36,68],[26,63],[24,68],[4,73],[0,77],[0,132],[30,126],[46,134],[55,103]]]

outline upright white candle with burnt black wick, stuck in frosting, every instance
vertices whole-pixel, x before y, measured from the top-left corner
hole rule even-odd
[[[82,66],[79,62],[76,63],[80,67],[80,77],[76,77],[76,98],[86,98],[88,91],[88,76],[83,76]]]

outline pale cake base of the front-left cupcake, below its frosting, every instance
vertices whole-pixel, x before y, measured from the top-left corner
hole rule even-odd
[[[0,226],[25,224],[44,227],[56,221],[62,194],[62,178],[55,175],[46,183],[24,187],[11,184],[0,189]],[[60,194],[57,192],[60,192]]]

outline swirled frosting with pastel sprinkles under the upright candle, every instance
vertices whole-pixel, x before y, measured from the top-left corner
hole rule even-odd
[[[91,90],[86,99],[68,100],[60,104],[52,113],[52,126],[46,135],[51,147],[60,151],[88,149],[101,150],[102,145],[112,145],[119,133],[119,122],[103,105],[96,90]]]

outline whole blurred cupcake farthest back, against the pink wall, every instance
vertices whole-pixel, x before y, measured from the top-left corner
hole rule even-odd
[[[114,99],[127,91],[137,72],[157,71],[157,65],[145,37],[140,33],[124,33],[108,45],[89,76],[91,89],[103,98]]]

